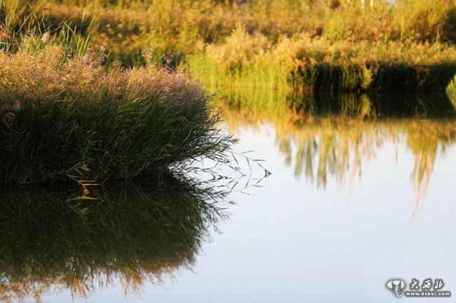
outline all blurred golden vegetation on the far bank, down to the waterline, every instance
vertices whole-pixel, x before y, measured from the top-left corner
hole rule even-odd
[[[173,53],[217,86],[443,91],[456,73],[455,0],[362,2],[15,0],[4,15],[15,29],[32,12],[43,30],[72,24],[126,65],[152,45],[156,62]]]

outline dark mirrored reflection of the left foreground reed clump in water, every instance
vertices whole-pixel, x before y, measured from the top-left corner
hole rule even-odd
[[[0,191],[0,301],[59,290],[85,297],[120,281],[138,290],[190,267],[224,192],[175,178],[161,183]],[[76,197],[76,198],[75,198]]]

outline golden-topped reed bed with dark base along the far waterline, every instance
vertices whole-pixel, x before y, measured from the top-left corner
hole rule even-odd
[[[233,31],[224,43],[189,56],[204,83],[300,92],[444,92],[456,50],[443,43],[335,41],[309,34],[272,45],[262,34]]]

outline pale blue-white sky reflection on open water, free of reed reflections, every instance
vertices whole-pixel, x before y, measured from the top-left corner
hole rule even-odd
[[[456,288],[455,149],[438,152],[418,207],[415,156],[384,138],[361,178],[326,188],[297,178],[271,125],[239,128],[239,150],[256,148],[272,175],[250,196],[234,195],[223,234],[177,283],[152,290],[160,302],[396,302],[389,279],[443,279]],[[404,138],[405,139],[405,138]],[[243,143],[242,143],[243,142]],[[185,299],[184,299],[185,298]],[[403,299],[422,302],[422,298]],[[436,302],[451,302],[436,299]]]

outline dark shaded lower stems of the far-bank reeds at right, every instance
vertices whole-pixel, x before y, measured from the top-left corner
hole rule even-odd
[[[434,65],[320,64],[293,75],[295,90],[304,92],[445,92],[456,63]]]

